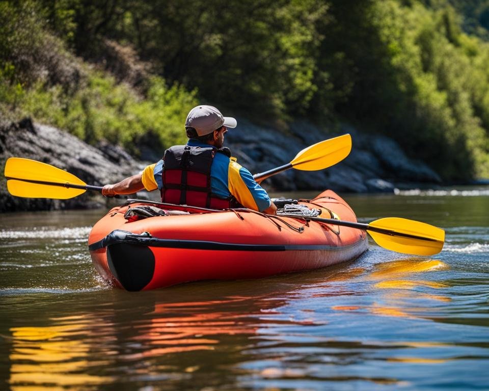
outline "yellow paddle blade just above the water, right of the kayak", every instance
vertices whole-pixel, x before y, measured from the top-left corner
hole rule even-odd
[[[370,228],[386,232],[375,232]],[[445,241],[445,231],[442,229],[400,217],[385,217],[372,221],[367,232],[379,246],[404,254],[438,254]]]

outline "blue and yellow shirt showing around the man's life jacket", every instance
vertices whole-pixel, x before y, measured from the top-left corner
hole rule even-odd
[[[187,143],[191,147],[209,148],[208,144],[190,139]],[[163,159],[155,164],[148,165],[143,171],[143,185],[146,190],[152,191],[163,187],[162,171]],[[263,212],[270,206],[270,198],[265,189],[253,179],[253,175],[236,162],[236,158],[216,153],[210,167],[210,185],[212,192],[220,198],[226,199],[230,195],[244,207]]]

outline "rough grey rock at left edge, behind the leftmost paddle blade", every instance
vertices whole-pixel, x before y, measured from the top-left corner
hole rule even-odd
[[[54,165],[95,186],[117,182],[145,166],[120,148],[105,146],[101,151],[52,126],[33,124],[29,118],[0,125],[2,172],[11,156]],[[12,197],[7,192],[5,178],[2,182],[0,211],[88,208],[104,203],[101,195],[92,191],[69,200]]]

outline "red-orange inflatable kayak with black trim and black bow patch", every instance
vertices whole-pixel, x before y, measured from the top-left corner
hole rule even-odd
[[[93,227],[89,249],[102,277],[128,291],[200,280],[260,278],[356,259],[367,249],[365,231],[308,220],[357,221],[336,193],[298,200],[292,214],[249,209],[211,210],[128,200]],[[293,209],[302,208],[294,217]],[[290,210],[290,208],[289,208]]]

